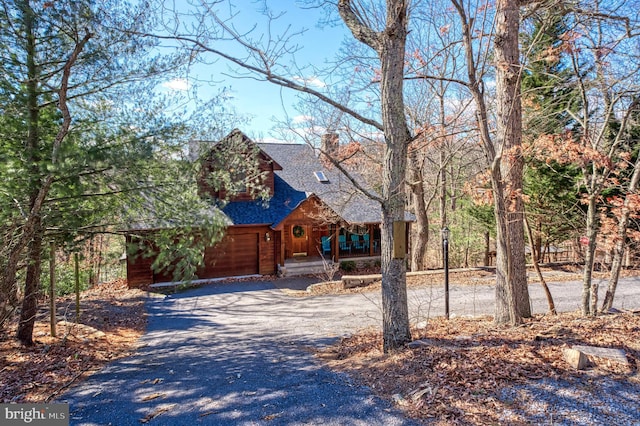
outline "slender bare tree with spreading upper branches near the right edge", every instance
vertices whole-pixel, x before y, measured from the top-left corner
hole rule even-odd
[[[576,131],[567,135],[566,145],[579,153],[581,184],[586,192],[583,201],[587,206],[588,246],[582,277],[582,312],[595,315],[598,288],[592,273],[599,229],[598,204],[625,151],[625,133],[638,95],[640,61],[631,46],[637,44],[639,27],[637,19],[629,19],[636,7],[633,2],[623,2],[614,10],[599,0],[584,6],[572,10],[575,30],[565,36],[565,49],[570,53],[581,97],[581,110],[574,116]],[[613,127],[615,122],[620,123],[617,129]]]

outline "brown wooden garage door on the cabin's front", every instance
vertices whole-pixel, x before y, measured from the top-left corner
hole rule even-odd
[[[205,271],[200,278],[232,277],[258,273],[257,232],[227,235],[215,247],[205,251]]]

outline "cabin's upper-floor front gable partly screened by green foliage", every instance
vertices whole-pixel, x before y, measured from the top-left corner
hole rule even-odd
[[[203,195],[226,201],[251,201],[274,193],[274,172],[282,170],[247,135],[234,129],[201,159],[198,186]]]

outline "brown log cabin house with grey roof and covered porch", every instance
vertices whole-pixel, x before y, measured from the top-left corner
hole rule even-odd
[[[206,179],[217,167],[217,150],[241,141],[257,152],[261,184],[268,202],[256,200],[241,188],[221,205],[228,227],[223,240],[203,253],[199,279],[276,273],[305,273],[293,266],[313,265],[322,259],[375,260],[380,256],[381,209],[357,192],[353,183],[335,167],[327,167],[316,150],[306,144],[255,143],[235,129],[211,148],[202,166],[201,192],[212,200],[224,197],[224,188]],[[337,148],[337,135],[325,135],[321,150]],[[218,157],[219,158],[219,157]],[[408,228],[408,227],[407,227]],[[408,237],[407,237],[408,238]],[[407,245],[408,246],[408,245]],[[170,282],[171,277],[151,269],[152,258],[127,260],[129,286],[144,287]],[[288,272],[287,272],[288,271]]]

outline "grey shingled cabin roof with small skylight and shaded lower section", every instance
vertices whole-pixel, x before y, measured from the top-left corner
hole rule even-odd
[[[324,167],[310,146],[283,143],[258,146],[282,170],[275,171],[274,196],[267,206],[261,201],[236,201],[223,208],[234,224],[277,226],[314,195],[349,224],[381,221],[380,205],[357,192],[340,171]],[[317,172],[322,174],[317,176]]]

